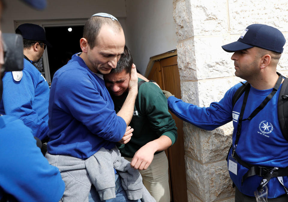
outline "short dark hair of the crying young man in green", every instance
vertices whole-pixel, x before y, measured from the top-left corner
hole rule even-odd
[[[133,65],[133,59],[130,49],[125,45],[124,52],[122,53],[119,61],[117,62],[116,68],[110,71],[111,74],[119,74],[125,71],[127,74],[131,74],[131,67]]]

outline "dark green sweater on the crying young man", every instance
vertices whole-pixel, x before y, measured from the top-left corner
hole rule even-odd
[[[138,78],[139,81],[142,79]],[[127,95],[128,92],[120,97],[112,96],[116,113],[121,109]],[[133,157],[138,149],[161,135],[169,137],[172,145],[175,143],[177,139],[175,121],[168,112],[166,97],[154,83],[145,82],[140,85],[129,126],[134,128],[131,140],[127,144],[117,145],[122,156]],[[159,152],[155,154],[157,153]]]

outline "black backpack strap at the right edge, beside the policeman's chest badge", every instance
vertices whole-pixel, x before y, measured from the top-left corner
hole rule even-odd
[[[278,98],[278,120],[281,132],[288,141],[288,79],[284,79]]]

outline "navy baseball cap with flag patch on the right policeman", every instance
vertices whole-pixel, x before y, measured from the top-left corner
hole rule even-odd
[[[253,24],[243,30],[238,41],[223,45],[222,48],[224,51],[232,53],[256,46],[282,53],[285,42],[286,39],[278,29],[268,25]]]

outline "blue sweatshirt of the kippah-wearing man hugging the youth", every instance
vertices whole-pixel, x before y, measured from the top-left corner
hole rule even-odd
[[[53,77],[48,123],[48,152],[81,159],[113,148],[126,131],[103,79],[76,54]]]

